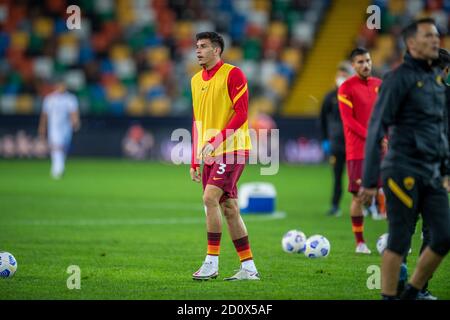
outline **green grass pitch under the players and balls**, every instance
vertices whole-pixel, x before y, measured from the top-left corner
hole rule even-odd
[[[367,268],[379,265],[375,243],[385,221],[366,219],[372,255],[354,253],[345,193],[343,216],[327,217],[328,166],[280,167],[261,176],[247,166],[240,183],[275,184],[282,219],[244,215],[261,281],[225,282],[239,260],[224,224],[219,277],[197,282],[192,273],[206,252],[201,186],[187,166],[120,160],[69,159],[66,176],[49,177],[48,161],[0,161],[0,250],[18,271],[0,279],[0,299],[379,299],[367,288]],[[281,250],[290,229],[322,234],[330,256],[307,259]],[[419,228],[419,227],[418,227]],[[413,239],[409,271],[420,247]],[[81,269],[81,288],[69,290],[67,268]],[[450,259],[430,289],[450,299]]]

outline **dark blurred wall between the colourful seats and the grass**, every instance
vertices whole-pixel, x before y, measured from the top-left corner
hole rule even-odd
[[[316,119],[274,118],[279,130],[280,161],[318,163],[323,161]],[[0,116],[0,158],[46,158],[48,146],[38,139],[37,116]],[[73,135],[70,155],[171,161],[172,132],[191,131],[186,117],[132,118],[82,117],[82,128]],[[190,148],[190,142],[188,142]],[[186,161],[190,155],[185,155]]]

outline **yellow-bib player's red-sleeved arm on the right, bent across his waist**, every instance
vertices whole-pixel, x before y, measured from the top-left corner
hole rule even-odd
[[[248,120],[248,85],[244,73],[239,68],[233,68],[228,75],[228,94],[233,101],[235,114],[226,127],[211,138],[205,148],[213,151],[229,136],[233,135]],[[211,150],[212,149],[212,150]]]

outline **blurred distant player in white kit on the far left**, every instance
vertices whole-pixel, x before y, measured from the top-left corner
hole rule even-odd
[[[41,139],[45,139],[47,131],[52,162],[51,175],[55,179],[61,178],[64,173],[72,132],[79,128],[77,98],[66,90],[63,82],[58,81],[55,90],[44,98],[38,129]]]

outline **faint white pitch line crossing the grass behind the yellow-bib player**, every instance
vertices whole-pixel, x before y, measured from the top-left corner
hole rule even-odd
[[[243,214],[244,221],[270,221],[279,220],[286,217],[285,212],[275,212],[273,214]],[[153,219],[65,219],[65,220],[16,220],[2,223],[6,225],[27,225],[27,226],[113,226],[113,225],[164,225],[164,224],[201,224],[205,223],[204,217],[186,218],[153,218]]]

